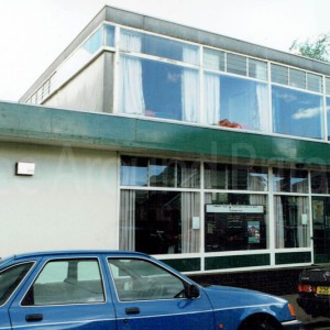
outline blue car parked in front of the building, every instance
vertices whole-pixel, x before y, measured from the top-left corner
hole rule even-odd
[[[0,330],[271,330],[298,324],[284,299],[200,287],[145,254],[48,252],[0,262]]]

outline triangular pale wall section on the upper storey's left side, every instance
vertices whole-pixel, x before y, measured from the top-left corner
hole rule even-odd
[[[103,111],[105,53],[57,90],[44,105],[80,111]]]

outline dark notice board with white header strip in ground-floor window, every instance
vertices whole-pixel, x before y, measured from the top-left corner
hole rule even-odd
[[[266,248],[264,206],[206,205],[206,252]]]

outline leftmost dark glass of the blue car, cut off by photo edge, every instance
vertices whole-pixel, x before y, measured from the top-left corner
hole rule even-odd
[[[32,265],[32,262],[16,264],[0,272],[0,306],[12,295]]]

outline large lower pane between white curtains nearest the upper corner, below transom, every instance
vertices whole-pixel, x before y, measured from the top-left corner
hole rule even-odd
[[[157,61],[121,56],[120,111],[197,122],[197,69]]]

